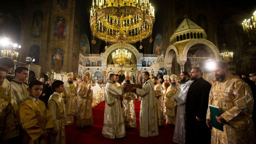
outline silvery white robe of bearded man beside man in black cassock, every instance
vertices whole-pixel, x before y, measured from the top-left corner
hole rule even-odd
[[[173,141],[180,144],[185,144],[186,129],[185,129],[185,109],[187,101],[187,92],[190,85],[193,83],[190,79],[185,81],[179,87],[174,98],[177,101],[177,114],[175,120],[175,129],[173,134]]]

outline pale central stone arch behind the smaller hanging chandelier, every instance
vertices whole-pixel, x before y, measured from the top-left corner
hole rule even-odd
[[[129,50],[131,50],[133,53],[134,53],[134,55],[135,55],[135,57],[136,57],[136,59],[137,59],[137,65],[138,66],[141,66],[141,62],[142,62],[142,57],[141,57],[141,55],[142,54],[140,54],[139,53],[139,51],[136,49],[136,47],[134,47],[133,45],[130,45],[130,44],[128,44],[128,46],[127,46],[127,44],[125,44],[126,46],[125,46],[125,48],[127,48],[127,49],[129,49]],[[106,64],[107,64],[107,58],[108,58],[108,56],[111,54],[111,52],[114,50],[114,49],[116,49],[117,48],[117,46],[115,46],[115,44],[113,44],[113,45],[110,45],[109,47],[108,47],[108,49],[104,52],[104,53],[101,53],[101,59],[102,59],[102,66],[106,66]]]

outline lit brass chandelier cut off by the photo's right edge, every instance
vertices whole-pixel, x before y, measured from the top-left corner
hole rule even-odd
[[[248,20],[244,20],[244,22],[242,23],[243,28],[244,28],[244,32],[247,35],[248,39],[249,39],[249,44],[251,45],[250,40],[256,40],[256,11],[253,12],[253,16],[251,17],[251,19]]]

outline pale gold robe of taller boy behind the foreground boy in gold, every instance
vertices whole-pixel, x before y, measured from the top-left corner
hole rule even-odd
[[[27,88],[29,86],[23,82],[19,83],[17,81],[11,81],[10,84],[12,89],[12,95],[14,96],[16,103],[19,107],[21,102],[29,96],[29,92],[27,91]]]

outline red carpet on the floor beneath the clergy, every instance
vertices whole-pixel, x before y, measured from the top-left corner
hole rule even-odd
[[[66,132],[66,143],[67,144],[82,144],[82,143],[92,143],[92,144],[143,144],[143,143],[161,143],[168,144],[174,143],[172,141],[174,126],[173,125],[164,125],[159,128],[159,135],[154,137],[140,137],[139,136],[139,109],[140,101],[135,100],[135,112],[136,112],[136,129],[125,129],[126,136],[123,138],[105,138],[101,136],[101,131],[103,128],[104,120],[104,109],[105,101],[99,103],[96,107],[93,108],[93,122],[94,124],[86,128],[77,128],[76,127],[76,117],[74,117],[75,123],[70,126],[65,126]]]

